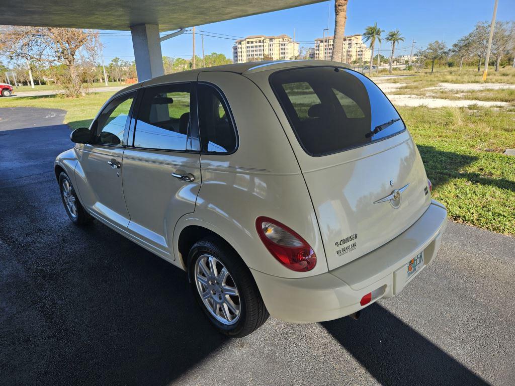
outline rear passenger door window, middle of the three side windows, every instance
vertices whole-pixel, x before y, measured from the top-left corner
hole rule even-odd
[[[191,83],[144,89],[134,133],[134,146],[188,150]]]

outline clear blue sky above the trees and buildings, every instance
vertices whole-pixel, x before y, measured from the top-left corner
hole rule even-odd
[[[389,31],[399,28],[406,38],[399,45],[399,55],[408,55],[411,40],[415,46],[422,48],[428,42],[443,40],[448,46],[468,33],[478,21],[491,20],[494,0],[349,0],[347,10],[346,34],[361,33],[366,26],[377,22],[377,25]],[[296,40],[313,43],[315,38],[322,37],[322,30],[327,28],[330,10],[329,28],[334,31],[334,1],[323,2],[261,15],[242,17],[197,26],[200,30],[246,37],[255,34],[279,35],[286,33]],[[499,0],[497,20],[515,20],[515,1]],[[124,36],[109,36],[112,34]],[[133,60],[130,33],[120,31],[101,31],[104,44],[106,64],[114,57]],[[197,36],[196,52],[201,54],[200,36]],[[231,47],[234,40],[204,37],[204,50],[220,52],[232,58]],[[301,43],[309,46],[308,43]],[[311,45],[312,46],[312,45]],[[405,49],[403,49],[405,47]],[[388,48],[381,47],[387,55]],[[384,51],[383,51],[384,49]],[[192,36],[182,36],[162,43],[163,56],[188,58],[192,56]]]

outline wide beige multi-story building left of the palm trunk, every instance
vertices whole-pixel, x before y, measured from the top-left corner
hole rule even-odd
[[[234,63],[259,60],[290,60],[299,55],[299,43],[287,35],[249,36],[236,40],[232,47]]]

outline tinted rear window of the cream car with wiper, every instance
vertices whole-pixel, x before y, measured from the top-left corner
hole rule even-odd
[[[297,68],[273,73],[270,84],[310,155],[367,145],[405,130],[379,87],[357,72]]]

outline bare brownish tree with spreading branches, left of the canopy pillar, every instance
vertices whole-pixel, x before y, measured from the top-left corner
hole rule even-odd
[[[98,32],[73,28],[0,27],[0,54],[11,60],[25,59],[66,68],[63,87],[68,96],[84,95],[77,65],[96,58]]]

